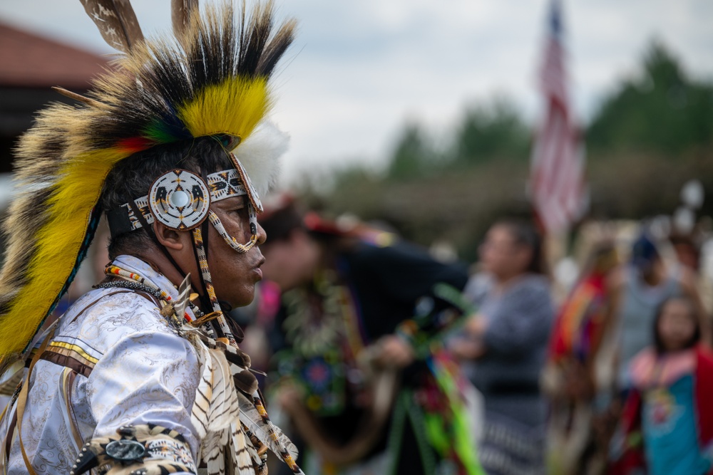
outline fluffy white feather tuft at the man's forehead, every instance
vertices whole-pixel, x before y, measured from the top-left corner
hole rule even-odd
[[[289,135],[265,119],[233,150],[260,198],[265,197],[277,181],[279,157],[287,151],[288,143]]]

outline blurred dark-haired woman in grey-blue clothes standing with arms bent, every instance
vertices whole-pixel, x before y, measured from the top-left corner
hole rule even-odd
[[[452,346],[472,360],[468,374],[485,400],[481,464],[491,475],[541,474],[547,408],[538,380],[554,310],[540,236],[525,221],[499,221],[481,262],[466,291],[478,313]]]

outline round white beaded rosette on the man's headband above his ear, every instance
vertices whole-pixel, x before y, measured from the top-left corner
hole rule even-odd
[[[148,207],[155,219],[170,229],[193,229],[205,220],[210,192],[195,173],[175,169],[161,175],[151,186]]]

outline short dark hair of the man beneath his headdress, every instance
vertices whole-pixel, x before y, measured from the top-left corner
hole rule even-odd
[[[99,206],[102,212],[108,212],[132,199],[146,196],[153,182],[172,169],[185,169],[200,175],[204,169],[205,174],[210,174],[232,167],[230,156],[216,137],[153,147],[131,155],[111,169],[101,191]],[[109,258],[152,246],[155,246],[154,241],[143,228],[111,236]]]

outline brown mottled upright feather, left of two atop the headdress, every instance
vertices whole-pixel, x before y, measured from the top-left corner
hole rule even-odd
[[[84,10],[112,48],[128,53],[143,41],[143,33],[129,0],[81,0]]]

